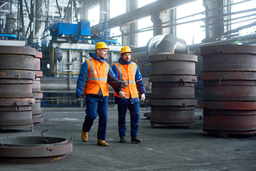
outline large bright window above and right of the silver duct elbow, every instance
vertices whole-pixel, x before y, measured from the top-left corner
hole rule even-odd
[[[204,11],[202,0],[195,1],[193,3],[183,4],[176,8],[176,36],[186,41],[187,45],[201,43],[205,38],[204,22],[200,19],[205,18],[205,15],[193,14]],[[182,18],[184,16],[189,16]]]

